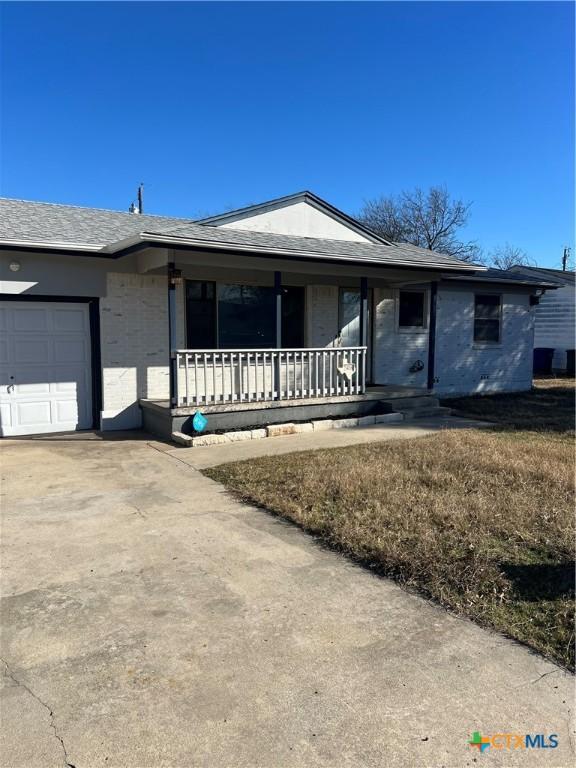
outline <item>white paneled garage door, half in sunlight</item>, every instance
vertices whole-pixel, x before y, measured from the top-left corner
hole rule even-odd
[[[0,302],[0,434],[92,426],[87,304]]]

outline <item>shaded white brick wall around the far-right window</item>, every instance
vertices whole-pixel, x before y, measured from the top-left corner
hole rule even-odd
[[[534,313],[529,296],[504,293],[502,304],[501,343],[475,344],[474,291],[438,291],[436,393],[530,389]]]

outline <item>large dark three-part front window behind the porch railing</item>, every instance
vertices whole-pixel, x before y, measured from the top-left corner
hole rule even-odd
[[[274,288],[186,281],[188,349],[276,346]],[[282,287],[282,346],[304,346],[304,288]]]

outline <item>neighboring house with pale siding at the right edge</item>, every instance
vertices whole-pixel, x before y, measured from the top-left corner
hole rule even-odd
[[[554,349],[552,368],[566,370],[566,350],[576,347],[575,274],[545,267],[513,267],[516,274],[555,283],[557,290],[540,299],[534,315],[534,346]]]

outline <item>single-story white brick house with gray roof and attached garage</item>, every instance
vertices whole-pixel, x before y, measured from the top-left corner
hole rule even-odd
[[[2,199],[0,250],[4,436],[529,389],[554,287],[387,242],[310,192],[203,221]]]

